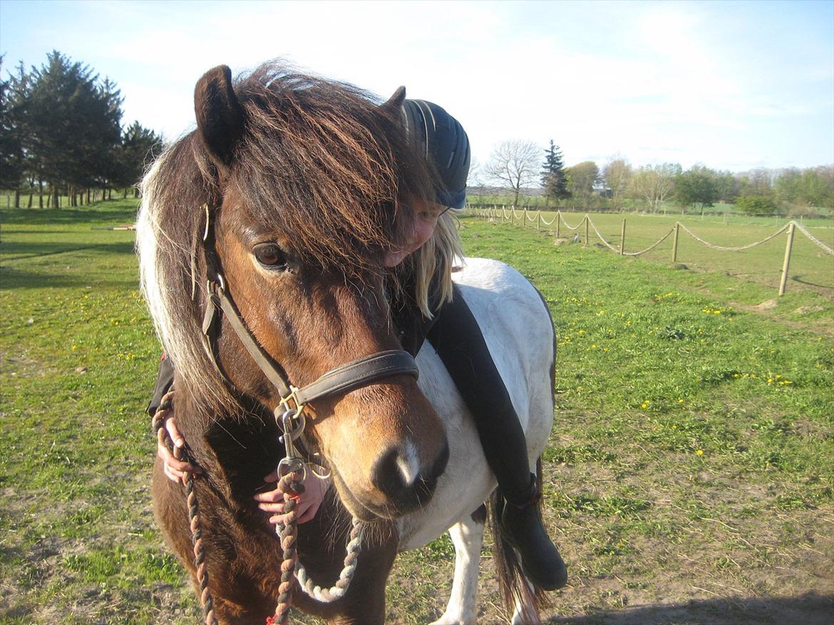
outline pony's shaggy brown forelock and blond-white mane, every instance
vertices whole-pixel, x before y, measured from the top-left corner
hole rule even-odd
[[[357,87],[277,62],[239,78],[234,92],[244,135],[224,183],[199,131],[188,133],[143,178],[137,223],[142,290],[163,349],[189,395],[199,389],[203,403],[233,411],[237,402],[199,332],[203,206],[218,210],[234,188],[249,217],[292,233],[289,252],[361,279],[382,271],[382,252],[410,228],[409,204],[434,188],[433,172],[405,136],[399,104],[380,105]]]

